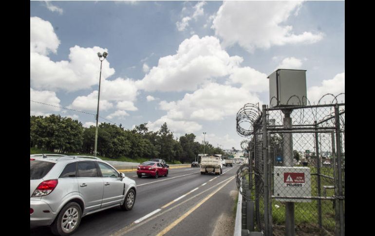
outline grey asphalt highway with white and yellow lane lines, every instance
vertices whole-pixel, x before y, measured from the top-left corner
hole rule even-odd
[[[223,174],[201,175],[199,168],[169,169],[168,177],[138,178],[131,211],[112,208],[81,219],[74,236],[232,236],[235,174],[239,165],[223,167]],[[48,227],[30,229],[31,236],[52,235]]]

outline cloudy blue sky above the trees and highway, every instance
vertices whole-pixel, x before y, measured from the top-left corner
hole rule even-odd
[[[77,111],[96,114],[107,51],[99,122],[239,149],[236,113],[269,104],[276,69],[307,70],[311,102],[345,92],[344,18],[344,1],[30,1],[30,115],[94,125]]]

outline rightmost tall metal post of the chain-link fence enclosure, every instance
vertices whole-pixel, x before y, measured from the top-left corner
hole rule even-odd
[[[340,142],[340,117],[338,104],[335,105],[335,124],[336,124],[336,153],[337,153],[337,172],[338,172],[338,213],[340,221],[340,236],[345,235],[344,231],[344,202],[342,191],[342,163],[341,163],[341,142]]]

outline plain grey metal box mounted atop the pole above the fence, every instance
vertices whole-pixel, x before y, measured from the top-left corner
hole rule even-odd
[[[305,106],[306,70],[277,69],[269,78],[269,106]]]

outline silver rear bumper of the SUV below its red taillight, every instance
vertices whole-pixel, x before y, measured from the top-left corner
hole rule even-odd
[[[51,225],[57,216],[43,200],[30,199],[30,208],[34,210],[30,215],[30,227]]]

